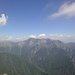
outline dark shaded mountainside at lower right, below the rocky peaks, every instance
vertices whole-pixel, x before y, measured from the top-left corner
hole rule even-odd
[[[51,50],[41,48],[32,60],[50,75],[75,75],[72,60],[60,48],[52,48]]]

